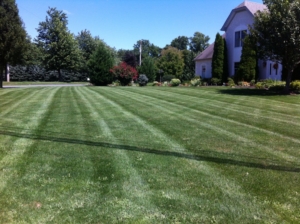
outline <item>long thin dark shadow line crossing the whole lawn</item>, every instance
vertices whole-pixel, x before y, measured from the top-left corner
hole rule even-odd
[[[6,136],[12,136],[18,138],[27,138],[32,140],[42,140],[42,141],[79,144],[79,145],[87,145],[87,146],[95,146],[95,147],[113,148],[113,149],[127,150],[133,152],[143,152],[143,153],[150,153],[150,154],[156,154],[162,156],[185,158],[185,159],[196,160],[196,161],[206,161],[206,162],[213,162],[218,164],[229,164],[235,166],[259,168],[265,170],[277,170],[277,171],[300,173],[300,168],[295,168],[295,167],[287,167],[287,166],[280,166],[280,165],[265,165],[256,162],[245,162],[245,161],[238,161],[234,159],[219,158],[213,156],[203,156],[203,155],[187,154],[187,153],[173,152],[173,151],[162,151],[162,150],[151,149],[146,147],[136,147],[136,146],[113,144],[107,142],[86,141],[86,140],[79,140],[79,139],[72,139],[72,138],[41,136],[41,135],[34,135],[34,134],[23,134],[14,131],[4,131],[4,130],[0,130],[0,135],[6,135]]]

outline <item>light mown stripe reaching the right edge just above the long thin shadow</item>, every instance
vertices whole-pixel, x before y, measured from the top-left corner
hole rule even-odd
[[[204,133],[206,132],[211,132],[211,136],[214,136],[215,138],[212,139],[212,141],[215,141],[217,139],[218,141],[222,141],[223,147],[226,147],[226,143],[229,142],[228,145],[231,145],[231,148],[233,147],[233,145],[238,144],[240,146],[238,147],[239,152],[240,151],[243,151],[244,153],[248,152],[246,154],[249,154],[251,152],[253,155],[260,153],[261,155],[265,155],[265,158],[269,158],[270,154],[272,154],[273,155],[272,158],[275,155],[277,158],[276,160],[284,158],[288,163],[290,163],[291,161],[298,162],[298,157],[295,157],[294,155],[292,156],[291,154],[287,154],[279,150],[274,150],[274,148],[270,148],[268,145],[265,144],[256,143],[255,141],[253,141],[254,138],[249,137],[249,133],[245,135],[243,132],[242,133],[232,132],[231,129],[225,128],[226,126],[228,126],[226,125],[226,122],[225,124],[220,122],[218,122],[217,124],[210,124],[206,122],[205,119],[203,120],[199,119],[197,113],[195,114],[190,113],[190,116],[185,116],[185,114],[181,114],[180,111],[183,111],[182,106],[178,106],[177,104],[162,102],[163,104],[162,107],[161,104],[155,98],[142,95],[141,93],[136,94],[136,93],[131,93],[130,91],[126,91],[126,94],[124,94],[123,91],[119,91],[119,90],[112,90],[112,91],[115,94],[119,94],[120,95],[119,97],[126,95],[127,98],[130,98],[128,99],[128,101],[131,102],[139,101],[141,104],[139,107],[143,105],[144,106],[149,105],[149,108],[156,108],[156,110],[159,111],[159,114],[162,114],[162,119],[168,119],[172,117],[172,118],[176,118],[176,120],[178,121],[190,122],[189,125],[190,129],[197,131],[197,135],[199,136],[204,135]],[[191,112],[194,111],[195,111],[194,109],[191,110]],[[227,138],[224,138],[224,135],[227,136]],[[261,133],[258,133],[258,135],[261,135]],[[232,139],[235,139],[235,141],[232,141]],[[207,144],[207,142],[204,141],[203,144]],[[210,150],[214,150],[214,149],[210,148]],[[196,150],[192,149],[192,151],[195,152],[197,151],[197,149]]]

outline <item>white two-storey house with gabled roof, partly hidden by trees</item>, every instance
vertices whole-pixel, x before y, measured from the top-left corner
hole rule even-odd
[[[267,7],[257,2],[244,1],[234,8],[227,17],[221,31],[225,32],[228,51],[229,76],[234,76],[242,55],[243,39],[249,32],[248,25],[254,22],[257,11],[266,10]],[[195,73],[202,78],[211,78],[211,63],[214,43],[201,52],[195,60]],[[274,61],[258,61],[259,79],[281,80],[282,66]]]

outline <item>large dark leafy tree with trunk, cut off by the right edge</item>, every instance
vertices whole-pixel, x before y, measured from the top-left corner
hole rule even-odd
[[[250,32],[259,57],[279,61],[286,72],[286,91],[300,61],[300,1],[264,0],[268,10],[258,12]]]

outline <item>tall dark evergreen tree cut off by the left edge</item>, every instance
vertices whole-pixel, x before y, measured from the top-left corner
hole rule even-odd
[[[15,0],[0,1],[0,88],[3,87],[3,71],[8,63],[16,64],[26,52],[26,31],[19,17]]]

